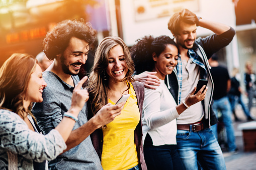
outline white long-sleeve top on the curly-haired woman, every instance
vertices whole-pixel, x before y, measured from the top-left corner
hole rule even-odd
[[[145,88],[142,112],[143,143],[148,133],[154,146],[177,144],[177,104],[164,80],[160,80],[160,86],[155,87],[155,90]]]

